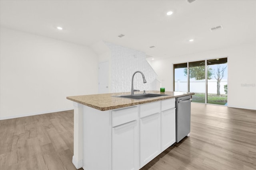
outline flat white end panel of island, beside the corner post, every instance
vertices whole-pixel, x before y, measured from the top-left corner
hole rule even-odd
[[[83,106],[84,111],[84,170],[110,170],[111,111]]]

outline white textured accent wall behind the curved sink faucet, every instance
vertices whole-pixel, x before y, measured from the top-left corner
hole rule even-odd
[[[143,83],[142,75],[136,73],[134,76],[134,89],[157,90],[154,80],[156,72],[146,61],[146,54],[141,51],[122,47],[105,42],[111,51],[111,87],[112,92],[130,92],[132,85],[132,74],[135,71],[144,73],[147,83]]]

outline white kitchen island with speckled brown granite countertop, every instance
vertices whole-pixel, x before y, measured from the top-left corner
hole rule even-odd
[[[141,94],[142,92],[134,92]],[[133,100],[130,93],[69,96],[74,102],[73,164],[84,170],[138,170],[175,143],[175,100],[190,92]]]

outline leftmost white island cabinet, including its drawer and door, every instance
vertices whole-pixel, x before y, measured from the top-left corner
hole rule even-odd
[[[112,111],[112,170],[139,169],[138,107]]]

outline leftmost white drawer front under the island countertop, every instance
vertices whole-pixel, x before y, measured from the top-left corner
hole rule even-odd
[[[129,107],[112,111],[112,127],[136,120],[138,118],[138,107]]]

